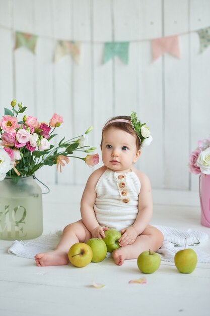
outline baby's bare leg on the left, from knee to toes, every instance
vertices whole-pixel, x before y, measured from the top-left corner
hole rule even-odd
[[[36,265],[38,267],[67,265],[69,248],[77,242],[86,242],[90,238],[91,233],[82,220],[69,224],[64,228],[60,242],[54,251],[35,255]]]

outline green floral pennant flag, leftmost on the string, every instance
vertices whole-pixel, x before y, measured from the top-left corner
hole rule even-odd
[[[16,31],[15,49],[25,46],[35,54],[37,35]]]

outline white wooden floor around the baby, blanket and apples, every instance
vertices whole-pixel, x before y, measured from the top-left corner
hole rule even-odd
[[[62,229],[80,218],[81,187],[50,186],[43,196],[44,234]],[[180,229],[200,225],[197,194],[155,191],[153,224]],[[75,268],[36,267],[31,259],[8,254],[11,241],[0,241],[0,315],[210,315],[210,264],[198,264],[192,274],[180,274],[173,263],[161,263],[151,275],[139,272],[136,261],[116,266],[111,258]],[[210,252],[210,241],[203,250]],[[128,284],[144,276],[147,284]],[[92,281],[105,287],[91,287]]]

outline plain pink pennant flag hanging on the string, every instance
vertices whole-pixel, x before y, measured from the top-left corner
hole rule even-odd
[[[161,57],[165,52],[180,58],[179,38],[175,36],[167,36],[152,39],[153,61]]]

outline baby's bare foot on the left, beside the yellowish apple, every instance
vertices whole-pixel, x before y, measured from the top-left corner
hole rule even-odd
[[[68,264],[67,253],[59,250],[41,252],[36,254],[34,258],[38,267],[64,266]]]

